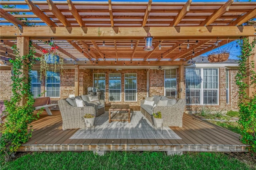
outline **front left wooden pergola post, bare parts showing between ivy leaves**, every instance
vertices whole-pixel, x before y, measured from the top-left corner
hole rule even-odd
[[[17,37],[17,49],[20,52],[20,56],[27,55],[29,53],[29,37]],[[23,61],[22,72],[26,77],[25,83],[28,83],[28,65]],[[22,97],[21,104],[25,105],[28,99],[26,96]]]

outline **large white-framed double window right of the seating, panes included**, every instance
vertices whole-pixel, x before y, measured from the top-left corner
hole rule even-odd
[[[218,104],[217,68],[186,68],[186,103]]]

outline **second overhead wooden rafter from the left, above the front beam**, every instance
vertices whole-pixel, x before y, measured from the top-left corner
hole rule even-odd
[[[38,18],[44,21],[50,27],[57,27],[57,25],[48,17],[42,10],[40,10],[31,0],[25,0],[29,6],[31,12],[33,12]]]

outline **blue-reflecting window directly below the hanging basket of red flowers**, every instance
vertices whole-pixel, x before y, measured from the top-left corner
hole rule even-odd
[[[60,97],[60,72],[47,71],[46,96],[52,98]]]

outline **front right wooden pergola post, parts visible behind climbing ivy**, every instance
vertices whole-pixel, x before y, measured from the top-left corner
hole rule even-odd
[[[254,40],[255,37],[248,37],[249,39],[249,43],[252,43],[252,41]],[[248,57],[247,61],[246,61],[246,65],[247,65],[247,70],[246,72],[249,73],[249,70],[254,70],[256,72],[256,46],[253,49],[253,55],[251,55],[250,57]],[[252,68],[252,66],[250,66],[250,63],[254,61],[254,68]],[[251,80],[249,77],[247,77],[247,79],[244,80],[244,82],[246,84],[250,84]],[[246,94],[249,97],[252,97],[253,92],[256,92],[256,87],[252,87],[250,86],[249,88],[246,89]]]

